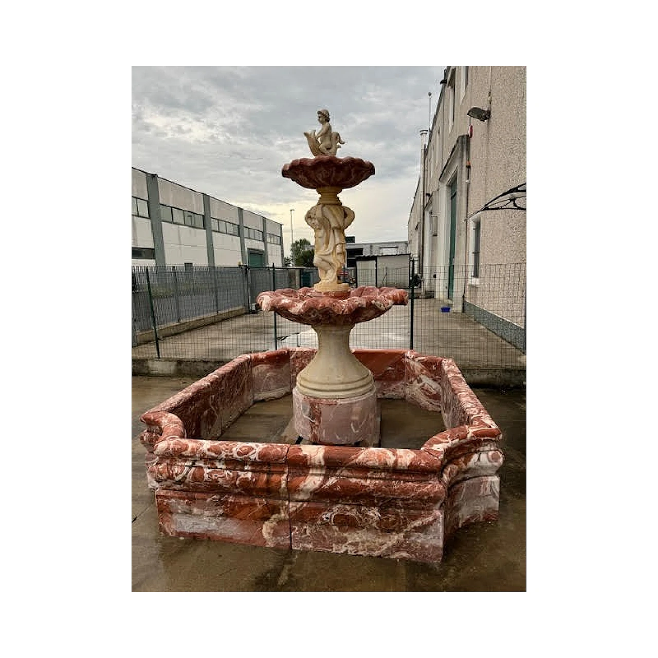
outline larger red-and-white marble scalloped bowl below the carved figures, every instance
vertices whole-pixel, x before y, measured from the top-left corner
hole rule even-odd
[[[321,293],[313,288],[284,288],[261,292],[256,297],[256,302],[261,305],[263,311],[276,311],[288,320],[311,326],[367,322],[386,313],[395,305],[406,305],[407,301],[409,295],[404,290],[373,286],[361,286],[343,295]]]

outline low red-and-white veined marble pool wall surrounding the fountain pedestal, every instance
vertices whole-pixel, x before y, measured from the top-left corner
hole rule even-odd
[[[495,520],[501,432],[452,359],[357,349],[379,398],[442,413],[422,448],[222,441],[255,401],[290,393],[315,349],[245,354],[141,417],[147,480],[171,536],[436,562]]]

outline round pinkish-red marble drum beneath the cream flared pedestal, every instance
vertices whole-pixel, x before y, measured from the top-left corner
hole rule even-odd
[[[357,397],[311,397],[293,388],[293,417],[299,436],[319,445],[378,447],[380,408],[373,390]]]

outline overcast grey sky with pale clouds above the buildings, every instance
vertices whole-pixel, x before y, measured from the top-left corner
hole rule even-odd
[[[134,66],[132,166],[284,226],[290,247],[318,195],[281,168],[313,157],[304,131],[326,108],[345,144],[338,157],[371,161],[375,175],[340,199],[359,241],[407,240],[420,172],[420,130],[436,108],[444,66]],[[428,92],[432,92],[432,97]]]

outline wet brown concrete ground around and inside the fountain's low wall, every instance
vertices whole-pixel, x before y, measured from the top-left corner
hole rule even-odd
[[[159,533],[147,488],[139,416],[194,380],[132,378],[132,590],[134,592],[524,592],[526,590],[526,396],[523,388],[473,388],[503,430],[505,462],[497,522],[461,528],[446,542],[443,561],[426,565],[379,557],[282,551]],[[399,401],[382,408],[382,434],[415,447],[432,418]],[[276,436],[288,424],[289,401],[255,405],[245,422]],[[420,432],[420,437],[417,436]],[[429,435],[428,435],[429,436]],[[384,438],[382,439],[384,440]],[[393,447],[393,446],[391,446]]]

